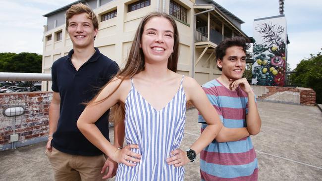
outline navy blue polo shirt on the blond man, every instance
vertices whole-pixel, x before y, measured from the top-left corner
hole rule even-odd
[[[115,61],[100,53],[98,48],[95,50],[93,56],[78,71],[71,62],[73,49],[67,56],[53,63],[52,90],[59,92],[60,112],[52,146],[64,153],[84,156],[103,154],[76,126],[78,117],[85,108],[83,103],[94,98],[100,88],[119,70]],[[109,140],[108,114],[109,110],[95,124]]]

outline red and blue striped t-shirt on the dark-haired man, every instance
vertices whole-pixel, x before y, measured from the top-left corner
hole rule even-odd
[[[203,85],[203,90],[215,107],[223,126],[246,127],[246,92],[239,87],[229,90],[216,79]],[[200,114],[198,122],[202,123],[203,131],[207,124]],[[200,153],[200,173],[202,181],[257,181],[258,162],[251,137],[222,143],[213,140]]]

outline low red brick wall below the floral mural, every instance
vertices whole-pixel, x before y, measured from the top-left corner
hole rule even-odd
[[[310,88],[290,88],[290,87],[273,87],[266,86],[269,90],[266,94],[259,96],[258,99],[265,99],[266,97],[283,91],[295,91],[300,92],[300,104],[314,106],[316,103],[316,92]]]

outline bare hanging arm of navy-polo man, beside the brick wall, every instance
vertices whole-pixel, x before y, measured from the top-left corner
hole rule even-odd
[[[60,95],[59,92],[53,92],[53,99],[49,107],[49,136],[46,148],[48,151],[52,152],[52,139],[53,134],[57,130],[57,124],[59,119],[59,109],[60,109]]]

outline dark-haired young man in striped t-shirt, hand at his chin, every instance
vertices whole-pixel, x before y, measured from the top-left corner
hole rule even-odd
[[[246,78],[247,44],[244,38],[226,39],[216,47],[217,67],[222,74],[203,89],[214,105],[223,127],[200,153],[202,181],[257,181],[258,162],[250,135],[261,129],[255,95]],[[206,128],[204,118],[201,131]]]

